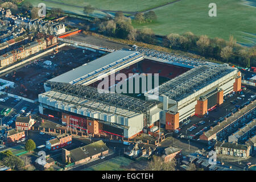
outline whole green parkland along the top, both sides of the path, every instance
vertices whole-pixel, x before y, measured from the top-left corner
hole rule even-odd
[[[34,6],[39,2],[46,3],[48,8],[60,7],[67,13],[84,15],[83,6],[88,3],[97,9],[143,11],[164,5],[174,0],[25,0]],[[209,17],[209,3],[211,0],[181,0],[170,5],[155,8],[158,20],[154,23],[133,22],[135,28],[152,28],[157,35],[170,33],[182,34],[191,31],[196,35],[208,35],[210,38],[219,37],[225,40],[233,35],[238,43],[255,45],[256,43],[256,1],[250,0],[254,6],[249,6],[243,0],[216,0],[217,17]],[[60,4],[60,3],[65,3]],[[68,5],[81,7],[73,7]],[[104,16],[101,11],[94,11],[93,16]]]

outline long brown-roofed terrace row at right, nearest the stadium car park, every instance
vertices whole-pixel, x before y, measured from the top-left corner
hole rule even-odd
[[[256,101],[251,101],[249,105],[245,105],[242,109],[238,109],[236,113],[224,121],[218,122],[216,126],[210,127],[210,129],[200,135],[200,140],[203,142],[210,142],[210,140],[220,140],[233,130],[237,130],[239,127],[244,126],[245,122],[249,118],[253,118],[256,114]]]

